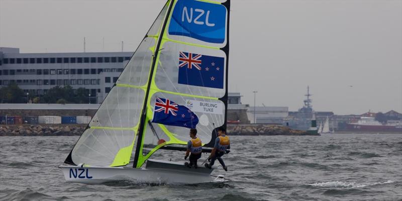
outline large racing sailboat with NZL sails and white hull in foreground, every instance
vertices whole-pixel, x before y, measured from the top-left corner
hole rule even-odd
[[[226,128],[229,11],[230,0],[166,2],[58,166],[67,181],[187,184],[223,178],[210,175],[213,169],[150,157],[160,149],[186,150],[189,128],[205,142],[203,152],[211,152],[216,128]]]

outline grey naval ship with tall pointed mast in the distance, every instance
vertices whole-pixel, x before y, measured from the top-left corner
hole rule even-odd
[[[297,112],[289,112],[289,116],[283,120],[283,125],[294,130],[308,131],[311,127],[316,127],[317,125],[312,125],[312,121],[315,120],[312,99],[310,96],[310,87],[307,86],[307,99],[304,100],[303,108],[300,108]]]

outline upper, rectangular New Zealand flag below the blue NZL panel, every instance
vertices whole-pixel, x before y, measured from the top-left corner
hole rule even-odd
[[[179,52],[178,83],[223,88],[225,58]]]

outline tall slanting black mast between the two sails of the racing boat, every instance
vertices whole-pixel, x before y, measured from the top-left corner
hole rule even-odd
[[[137,167],[137,163],[138,163],[138,158],[139,158],[139,154],[140,154],[140,150],[141,150],[141,144],[142,144],[142,140],[144,138],[144,129],[145,129],[145,120],[146,120],[146,116],[147,116],[147,103],[148,103],[148,98],[149,98],[149,88],[151,87],[151,83],[152,83],[152,77],[154,74],[154,70],[155,70],[155,64],[156,64],[156,59],[158,57],[158,53],[159,53],[159,47],[162,41],[162,37],[163,37],[163,33],[165,32],[165,28],[166,28],[166,23],[169,19],[170,16],[170,12],[172,10],[173,7],[173,3],[174,0],[170,0],[170,4],[169,4],[169,8],[166,12],[165,15],[165,19],[163,20],[163,24],[162,24],[162,29],[159,33],[158,36],[158,40],[157,40],[157,45],[155,48],[155,53],[153,55],[153,59],[152,59],[152,65],[151,65],[151,72],[150,75],[148,77],[148,84],[147,84],[147,90],[146,90],[146,94],[145,94],[145,98],[144,98],[144,105],[141,111],[141,120],[140,120],[140,126],[138,128],[138,140],[137,140],[137,146],[136,146],[136,151],[135,151],[135,155],[134,155],[134,163],[133,163],[133,167],[136,168]]]

